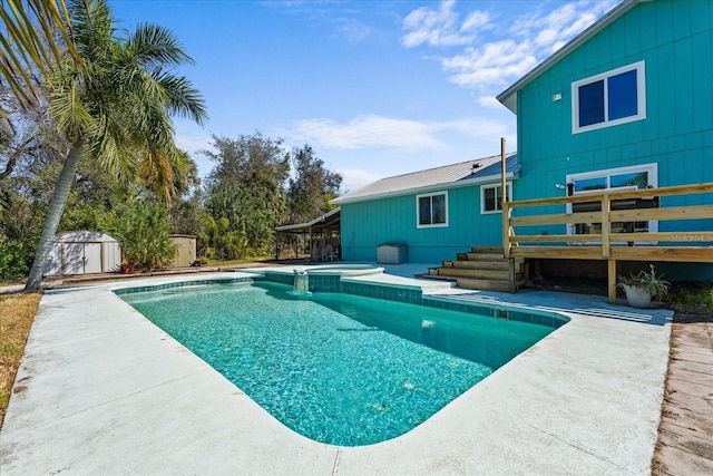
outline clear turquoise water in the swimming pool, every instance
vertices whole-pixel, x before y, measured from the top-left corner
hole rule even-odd
[[[293,430],[341,446],[402,435],[551,332],[258,282],[121,294]]]

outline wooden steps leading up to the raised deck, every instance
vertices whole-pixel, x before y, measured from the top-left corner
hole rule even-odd
[[[515,288],[526,281],[524,259],[512,261]],[[502,247],[472,246],[467,253],[458,253],[455,261],[443,261],[440,268],[430,268],[422,278],[456,281],[458,288],[488,291],[510,291],[510,260],[504,258]]]

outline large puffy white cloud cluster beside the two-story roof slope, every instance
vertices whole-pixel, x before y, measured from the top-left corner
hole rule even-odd
[[[516,17],[491,18],[475,10],[459,25],[455,0],[438,9],[419,8],[403,21],[407,47],[463,46],[462,52],[440,58],[449,80],[495,95],[531,70],[612,9],[618,0],[576,0],[537,4],[534,11]],[[468,6],[471,3],[465,2]],[[530,4],[534,4],[530,3]],[[554,10],[547,10],[555,4]],[[501,25],[496,25],[499,20]],[[476,31],[488,30],[490,41],[477,41]],[[502,31],[504,33],[499,33]],[[478,104],[481,104],[480,101]]]

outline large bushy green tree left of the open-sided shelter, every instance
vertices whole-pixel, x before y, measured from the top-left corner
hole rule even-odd
[[[237,139],[214,136],[213,142],[217,153],[205,152],[216,162],[207,178],[206,210],[216,222],[226,218],[229,232],[244,236],[245,253],[266,253],[286,210],[290,154],[282,140],[260,133]]]

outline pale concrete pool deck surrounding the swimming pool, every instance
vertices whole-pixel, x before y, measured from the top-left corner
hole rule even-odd
[[[672,311],[592,295],[429,288],[572,321],[412,431],[336,447],[284,427],[111,292],[195,279],[45,294],[0,433],[2,475],[651,474]]]

